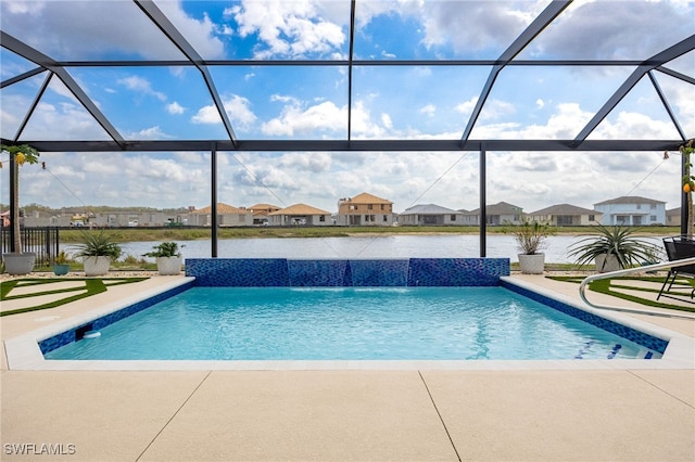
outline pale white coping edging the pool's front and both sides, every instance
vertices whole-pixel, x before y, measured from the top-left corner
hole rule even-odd
[[[605,360],[47,360],[39,342],[71,329],[118,311],[167,291],[190,284],[186,277],[84,313],[55,321],[4,342],[9,370],[43,371],[296,371],[296,370],[627,370],[627,369],[695,369],[695,338],[670,331],[621,312],[591,308],[527,281],[502,277],[504,282],[547,296],[573,308],[615,321],[628,328],[668,341],[660,359]]]

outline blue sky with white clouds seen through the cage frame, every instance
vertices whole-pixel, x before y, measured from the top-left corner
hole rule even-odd
[[[156,5],[205,60],[343,60],[350,1],[162,1]],[[496,59],[548,1],[358,1],[355,59]],[[55,60],[180,60],[129,1],[0,1],[2,30]],[[85,18],[88,18],[86,21]],[[644,60],[693,34],[693,1],[574,1],[523,60]],[[98,31],[98,34],[94,34]],[[35,67],[2,49],[5,80]],[[695,54],[669,63],[693,77]],[[226,139],[192,67],[73,67],[76,79],[126,140]],[[471,139],[572,139],[632,67],[505,68]],[[240,139],[346,137],[344,67],[211,66]],[[459,139],[488,66],[355,67],[353,139]],[[686,136],[695,137],[695,89],[661,73],[659,86]],[[0,90],[0,130],[14,138],[45,79]],[[105,140],[53,78],[22,134]],[[677,139],[645,77],[590,139]],[[210,154],[43,153],[48,170],[22,169],[22,203],[52,207],[210,203]],[[4,158],[3,158],[4,161]],[[434,203],[479,204],[477,153],[219,153],[218,200],[235,206],[305,203],[329,211],[369,192],[401,211]],[[570,203],[591,208],[621,195],[680,205],[680,158],[655,153],[488,153],[488,202],[525,211]],[[7,171],[3,169],[3,171]],[[7,175],[0,202],[9,202]]]

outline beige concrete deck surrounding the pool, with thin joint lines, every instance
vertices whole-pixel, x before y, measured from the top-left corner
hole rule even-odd
[[[173,278],[0,318],[1,460],[695,460],[695,362],[669,370],[8,370],[4,341]],[[576,284],[514,278],[579,298]],[[622,316],[695,337],[692,319]]]

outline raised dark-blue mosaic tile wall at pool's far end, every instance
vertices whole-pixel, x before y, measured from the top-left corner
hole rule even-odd
[[[493,286],[509,275],[509,259],[187,258],[186,275],[214,287]]]

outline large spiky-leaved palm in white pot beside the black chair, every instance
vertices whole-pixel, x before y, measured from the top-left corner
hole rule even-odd
[[[659,252],[656,245],[634,235],[639,228],[597,224],[594,229],[594,234],[569,248],[569,256],[574,257],[580,266],[594,261],[598,272],[618,271],[652,261]]]

